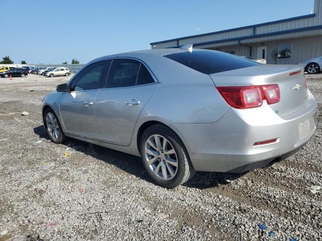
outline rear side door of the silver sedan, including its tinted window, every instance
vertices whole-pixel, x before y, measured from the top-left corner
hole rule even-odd
[[[133,59],[113,59],[104,89],[95,103],[100,140],[130,145],[133,130],[144,105],[158,88],[148,68]]]

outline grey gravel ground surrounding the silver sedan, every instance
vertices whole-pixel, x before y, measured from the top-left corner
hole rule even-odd
[[[137,157],[48,140],[41,98],[66,79],[0,78],[0,241],[322,240],[322,192],[309,190],[322,186],[320,123],[304,148],[270,168],[199,172],[168,190]],[[322,74],[307,82],[321,119]]]

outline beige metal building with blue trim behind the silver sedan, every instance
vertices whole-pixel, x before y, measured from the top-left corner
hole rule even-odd
[[[298,64],[322,56],[322,0],[314,13],[273,22],[151,43],[152,49],[193,44],[239,56],[266,59],[268,64]]]

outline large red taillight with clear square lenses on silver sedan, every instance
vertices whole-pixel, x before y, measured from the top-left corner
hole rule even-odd
[[[255,86],[217,86],[221,96],[226,102],[237,109],[258,107],[266,99],[268,104],[280,101],[278,84]]]

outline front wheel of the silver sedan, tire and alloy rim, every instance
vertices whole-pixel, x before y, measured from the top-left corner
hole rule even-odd
[[[61,129],[59,119],[57,118],[57,115],[51,108],[47,108],[45,110],[44,126],[52,142],[60,144],[66,140],[66,137]],[[56,132],[57,129],[58,129],[58,134]]]

